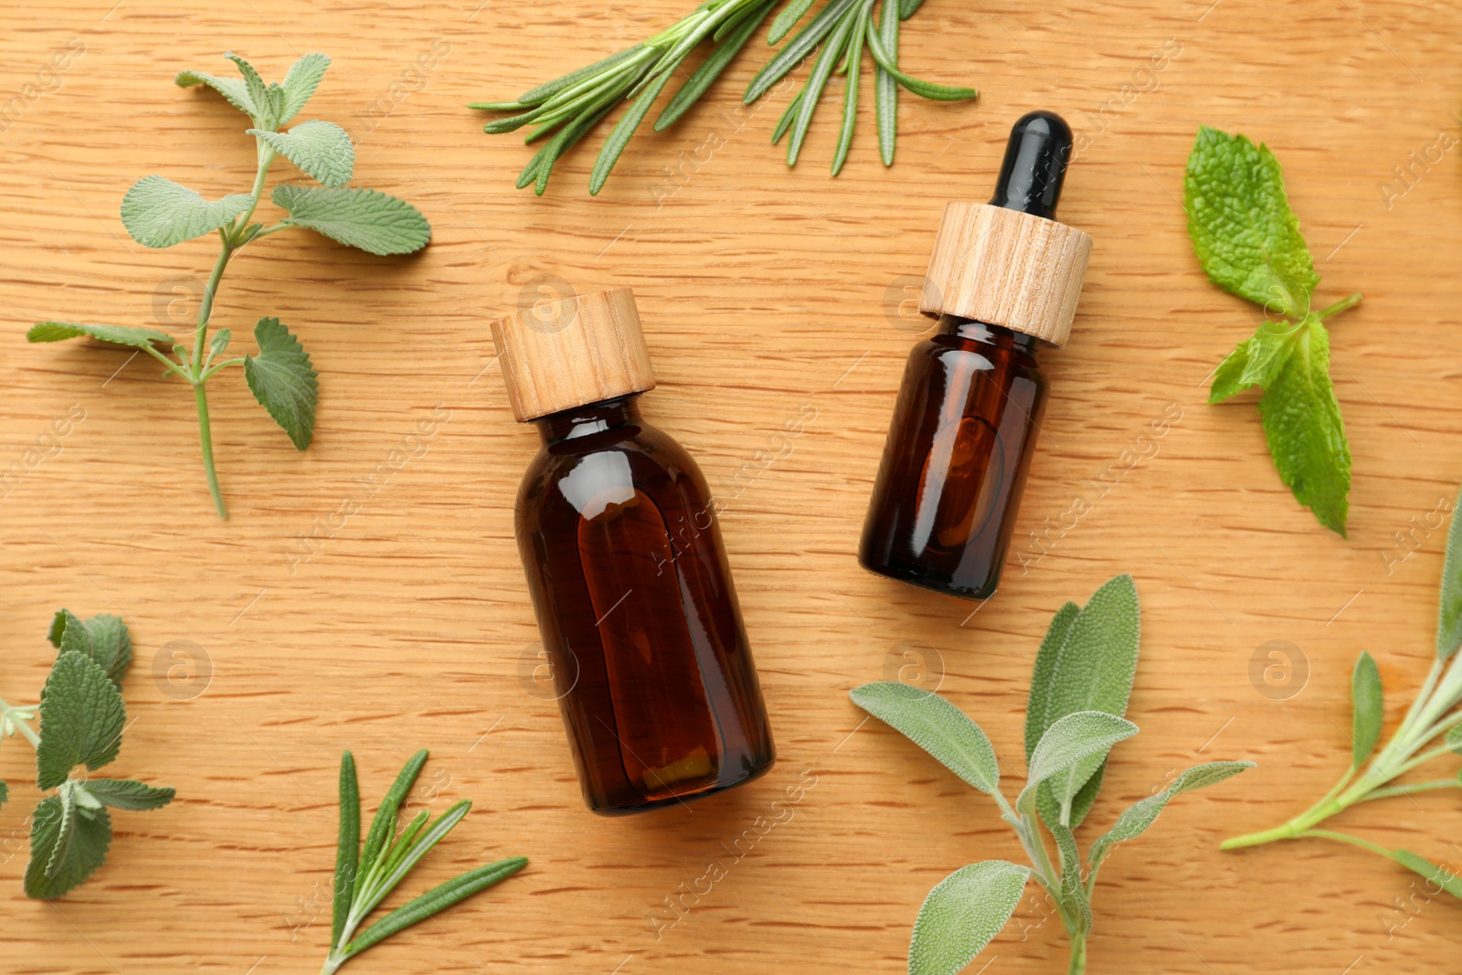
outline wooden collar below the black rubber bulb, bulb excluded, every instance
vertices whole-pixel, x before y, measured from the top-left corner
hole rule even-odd
[[[1091,235],[1075,227],[990,203],[949,203],[920,311],[1066,345],[1091,253]]]

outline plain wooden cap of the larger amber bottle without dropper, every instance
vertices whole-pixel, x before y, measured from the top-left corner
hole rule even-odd
[[[629,288],[534,306],[491,329],[518,422],[655,389]]]

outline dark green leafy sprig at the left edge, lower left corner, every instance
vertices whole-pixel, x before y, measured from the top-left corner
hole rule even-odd
[[[0,735],[19,734],[35,748],[35,785],[51,792],[31,814],[31,862],[25,895],[60,898],[91,877],[111,846],[108,808],[154,810],[173,801],[173,789],[135,779],[92,779],[121,750],[127,709],[121,678],[132,665],[127,624],[114,615],[82,620],[61,610],[48,634],[58,650],[41,703],[18,707],[0,700]],[[41,728],[29,725],[37,713]],[[0,805],[9,788],[0,782]]]

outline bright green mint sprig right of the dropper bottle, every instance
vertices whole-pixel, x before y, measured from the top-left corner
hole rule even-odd
[[[1325,320],[1360,304],[1361,295],[1311,308],[1320,275],[1268,146],[1203,126],[1183,186],[1189,237],[1209,281],[1276,316],[1219,364],[1209,402],[1260,387],[1259,412],[1279,479],[1344,536],[1351,449],[1330,386]]]

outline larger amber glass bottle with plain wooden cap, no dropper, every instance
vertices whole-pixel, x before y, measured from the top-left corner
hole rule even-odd
[[[696,462],[640,417],[655,387],[629,288],[493,323],[542,434],[516,531],[583,798],[649,810],[750,782],[772,731]]]

